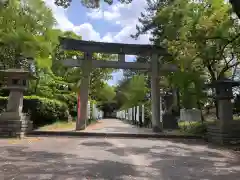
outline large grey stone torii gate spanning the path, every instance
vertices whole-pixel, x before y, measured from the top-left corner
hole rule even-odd
[[[160,121],[160,74],[159,71],[175,71],[173,65],[163,65],[158,62],[159,56],[169,55],[159,46],[103,43],[83,41],[70,38],[60,38],[60,44],[64,50],[76,50],[84,53],[83,59],[64,60],[63,64],[69,67],[81,67],[82,79],[80,86],[80,117],[76,123],[76,130],[80,130],[87,120],[87,105],[90,73],[92,68],[115,68],[115,69],[142,69],[151,73],[151,109],[153,132],[161,132],[163,129]],[[118,54],[118,61],[103,61],[92,59],[93,53]],[[125,62],[125,55],[151,56],[150,63]]]

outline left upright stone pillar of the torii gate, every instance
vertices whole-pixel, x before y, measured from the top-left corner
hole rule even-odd
[[[85,54],[85,59],[82,63],[82,78],[80,84],[80,115],[76,123],[76,130],[81,130],[88,119],[88,93],[90,73],[92,69],[92,54]]]

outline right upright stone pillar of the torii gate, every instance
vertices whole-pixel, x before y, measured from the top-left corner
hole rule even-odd
[[[159,63],[158,55],[153,54],[151,59],[151,108],[152,108],[152,128],[153,132],[162,131],[160,122],[160,87],[159,87]]]

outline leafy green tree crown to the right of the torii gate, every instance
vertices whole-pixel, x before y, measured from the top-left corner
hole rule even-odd
[[[133,37],[151,31],[152,42],[172,54],[162,63],[173,63],[179,71],[168,73],[161,83],[180,90],[182,107],[201,108],[207,100],[203,85],[230,78],[240,63],[240,24],[231,13],[224,0],[147,0]]]

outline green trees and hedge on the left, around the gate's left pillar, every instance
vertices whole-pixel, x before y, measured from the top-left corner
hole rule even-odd
[[[82,52],[63,51],[58,37],[82,39],[72,31],[54,28],[52,11],[42,0],[9,0],[0,11],[0,64],[1,69],[20,66],[29,68],[29,58],[35,61],[35,80],[30,80],[24,99],[24,112],[31,113],[35,126],[57,120],[66,120],[67,113],[77,116],[77,93],[81,85],[81,68],[64,67],[62,60],[80,58]],[[115,60],[116,56],[94,54],[97,60]],[[90,98],[97,99],[98,92],[111,78],[112,69],[95,69],[91,73]],[[108,100],[112,91],[103,88]],[[1,95],[8,95],[1,90]],[[114,93],[114,91],[113,91]],[[102,95],[101,95],[102,96]],[[102,96],[103,97],[103,96]],[[6,100],[1,98],[2,107]],[[5,103],[5,104],[4,104]]]

